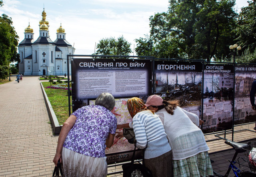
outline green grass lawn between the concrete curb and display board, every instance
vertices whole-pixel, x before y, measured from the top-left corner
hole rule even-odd
[[[63,123],[68,118],[68,95],[67,90],[61,90],[61,89],[51,89],[45,88],[50,86],[50,82],[42,82],[45,92],[48,96],[48,99],[53,107],[53,110],[56,114],[56,117],[60,123],[60,125],[63,125]],[[66,84],[66,83],[56,83],[52,85],[58,85],[58,84]],[[71,90],[70,90],[71,91]],[[70,96],[70,104],[72,104],[72,97]],[[71,112],[72,112],[72,106],[71,106]]]

